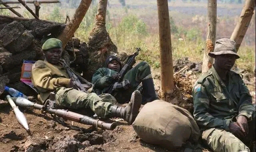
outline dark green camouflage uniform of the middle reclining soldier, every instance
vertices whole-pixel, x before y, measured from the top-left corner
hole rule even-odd
[[[118,72],[105,67],[98,69],[92,76],[94,90],[100,91],[100,93],[105,92],[112,84],[112,82],[109,81],[109,78],[116,73]],[[122,81],[126,79],[130,81],[131,86],[126,90],[120,89],[115,91],[114,97],[118,103],[125,103],[126,101],[129,101],[132,92],[137,89],[138,85],[143,80],[152,79],[150,66],[145,61],[138,63],[124,75]]]

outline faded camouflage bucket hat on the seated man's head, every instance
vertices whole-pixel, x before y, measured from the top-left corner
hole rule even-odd
[[[222,38],[216,41],[214,52],[209,52],[208,55],[214,58],[215,55],[234,54],[238,59],[240,56],[236,52],[236,42],[228,38]]]

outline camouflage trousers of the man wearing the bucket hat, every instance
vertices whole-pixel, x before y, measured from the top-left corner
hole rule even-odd
[[[249,132],[246,139],[239,139],[231,132],[223,129],[210,128],[202,132],[202,140],[214,151],[214,152],[250,152],[248,145],[255,141],[255,111],[252,114],[252,121],[248,122]]]

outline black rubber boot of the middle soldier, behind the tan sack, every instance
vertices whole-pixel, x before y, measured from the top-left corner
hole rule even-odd
[[[142,105],[157,100],[153,78],[142,81]]]

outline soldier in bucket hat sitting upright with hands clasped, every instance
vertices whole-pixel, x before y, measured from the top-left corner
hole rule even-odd
[[[216,41],[212,68],[196,81],[192,94],[194,118],[202,140],[214,152],[250,152],[255,144],[255,106],[238,73],[230,71],[239,58],[236,42]]]

